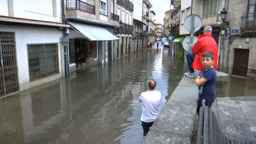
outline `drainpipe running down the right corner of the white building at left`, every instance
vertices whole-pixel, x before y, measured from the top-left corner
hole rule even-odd
[[[61,0],[61,15],[62,15],[62,22],[67,24],[67,18],[64,11],[64,0]],[[63,37],[66,35],[67,28],[63,28]],[[64,68],[65,68],[65,76],[69,76],[69,64],[68,64],[68,47],[64,46]]]

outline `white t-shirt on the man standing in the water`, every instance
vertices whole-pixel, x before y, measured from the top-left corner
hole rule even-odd
[[[161,93],[156,90],[154,92],[142,92],[139,99],[143,104],[140,120],[143,122],[155,122],[160,113]]]

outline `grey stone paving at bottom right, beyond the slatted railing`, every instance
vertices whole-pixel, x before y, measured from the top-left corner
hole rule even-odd
[[[256,96],[218,97],[212,104],[212,111],[219,118],[225,136],[256,142]]]

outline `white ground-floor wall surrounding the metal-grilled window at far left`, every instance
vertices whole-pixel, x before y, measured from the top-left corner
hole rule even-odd
[[[60,36],[61,29],[54,28],[36,28],[26,26],[8,26],[0,25],[0,31],[15,32],[15,46],[17,52],[17,68],[18,78],[20,84],[20,91],[28,88],[38,86],[43,83],[47,83],[54,79],[61,77],[61,50],[60,50]],[[27,44],[58,44],[58,60],[60,74],[38,79],[33,82],[29,82],[29,65],[28,65],[28,48]]]

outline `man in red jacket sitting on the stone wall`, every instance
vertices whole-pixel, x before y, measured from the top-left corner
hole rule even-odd
[[[204,65],[202,64],[202,54],[205,51],[211,51],[214,54],[214,58],[216,61],[212,64],[212,66],[217,68],[217,61],[218,61],[218,46],[214,38],[212,38],[212,27],[205,26],[204,28],[204,35],[198,36],[198,41],[192,47],[192,52],[188,52],[186,58],[188,61],[188,69],[189,72],[186,72],[184,76],[187,77],[195,77],[195,70],[202,71]]]

